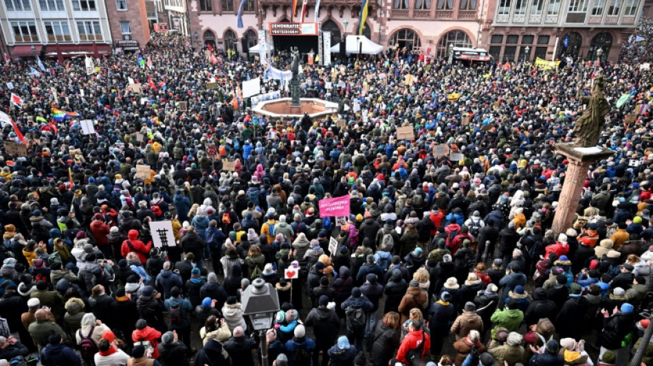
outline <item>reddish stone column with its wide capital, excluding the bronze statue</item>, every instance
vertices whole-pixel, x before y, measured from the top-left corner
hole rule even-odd
[[[573,144],[555,144],[557,154],[562,154],[569,160],[564,174],[562,193],[558,199],[555,216],[553,217],[553,233],[564,233],[571,227],[583,192],[583,183],[587,177],[590,165],[601,159],[610,157],[615,152],[606,148],[577,148]]]

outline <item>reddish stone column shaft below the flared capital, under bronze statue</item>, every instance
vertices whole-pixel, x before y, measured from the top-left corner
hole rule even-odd
[[[583,192],[583,183],[587,177],[590,165],[592,165],[591,161],[580,161],[575,158],[569,158],[569,165],[564,174],[562,193],[555,209],[555,216],[553,217],[553,225],[551,227],[556,238],[557,234],[564,233],[573,223],[576,208]]]

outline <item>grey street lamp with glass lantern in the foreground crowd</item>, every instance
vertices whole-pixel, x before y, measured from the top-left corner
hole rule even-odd
[[[274,315],[279,311],[279,295],[272,284],[254,279],[241,295],[241,310],[250,317],[254,330],[261,338],[261,366],[268,366],[265,331],[272,328]]]

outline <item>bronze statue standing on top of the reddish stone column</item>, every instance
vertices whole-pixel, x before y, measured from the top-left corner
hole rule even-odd
[[[583,96],[583,89],[578,88],[577,98],[582,104],[587,104],[587,108],[582,116],[576,119],[574,133],[576,140],[574,146],[579,148],[590,148],[597,146],[601,131],[606,124],[606,115],[610,111],[608,100],[604,98],[603,89],[606,83],[603,76],[597,76],[594,80],[594,86],[590,96]]]

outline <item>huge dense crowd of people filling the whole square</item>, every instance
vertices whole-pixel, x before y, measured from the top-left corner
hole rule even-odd
[[[6,62],[0,135],[27,152],[0,148],[0,365],[254,366],[260,347],[276,366],[627,365],[653,286],[650,48],[560,69],[406,51],[305,65],[302,95],[349,108],[279,121],[239,93],[262,78],[287,95],[267,65],[179,36],[92,74]],[[615,155],[555,235],[553,144],[599,74]],[[348,216],[320,215],[342,196]],[[255,279],[280,302],[265,336],[241,308]]]

